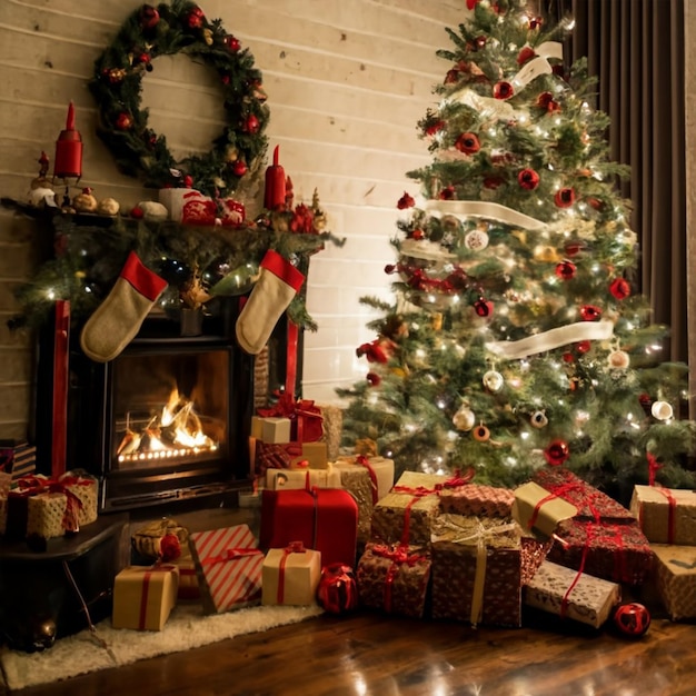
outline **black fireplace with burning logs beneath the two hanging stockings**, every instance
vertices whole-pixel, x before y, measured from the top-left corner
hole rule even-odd
[[[106,364],[90,360],[72,331],[67,466],[98,477],[100,511],[226,498],[249,486],[253,358],[236,345],[230,326],[233,317],[206,318],[201,335],[181,336],[179,322],[152,316]],[[50,473],[52,415],[40,395],[54,374],[46,342],[36,439],[38,468]]]

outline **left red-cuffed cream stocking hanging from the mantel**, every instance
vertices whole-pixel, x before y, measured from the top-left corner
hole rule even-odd
[[[82,350],[97,362],[113,360],[132,340],[167,281],[128,256],[113,288],[87,320],[80,334]]]

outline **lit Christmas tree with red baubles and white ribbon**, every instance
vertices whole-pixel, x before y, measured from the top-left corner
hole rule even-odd
[[[564,63],[571,20],[523,0],[473,10],[418,122],[431,162],[408,177],[392,239],[392,304],[357,354],[344,444],[376,441],[397,473],[473,470],[514,486],[564,466],[617,497],[693,486],[686,366],[636,288],[626,167],[609,161],[585,60]]]

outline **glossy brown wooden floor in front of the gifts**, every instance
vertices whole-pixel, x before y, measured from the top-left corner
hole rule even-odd
[[[21,696],[692,696],[696,625],[654,619],[638,640],[578,624],[471,629],[375,613],[325,615]],[[79,656],[76,655],[76,659]]]

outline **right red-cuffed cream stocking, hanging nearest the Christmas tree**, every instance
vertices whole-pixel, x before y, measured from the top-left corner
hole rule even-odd
[[[237,319],[237,340],[247,352],[261,352],[302,282],[305,276],[290,261],[272,249],[266,252],[261,275]]]

